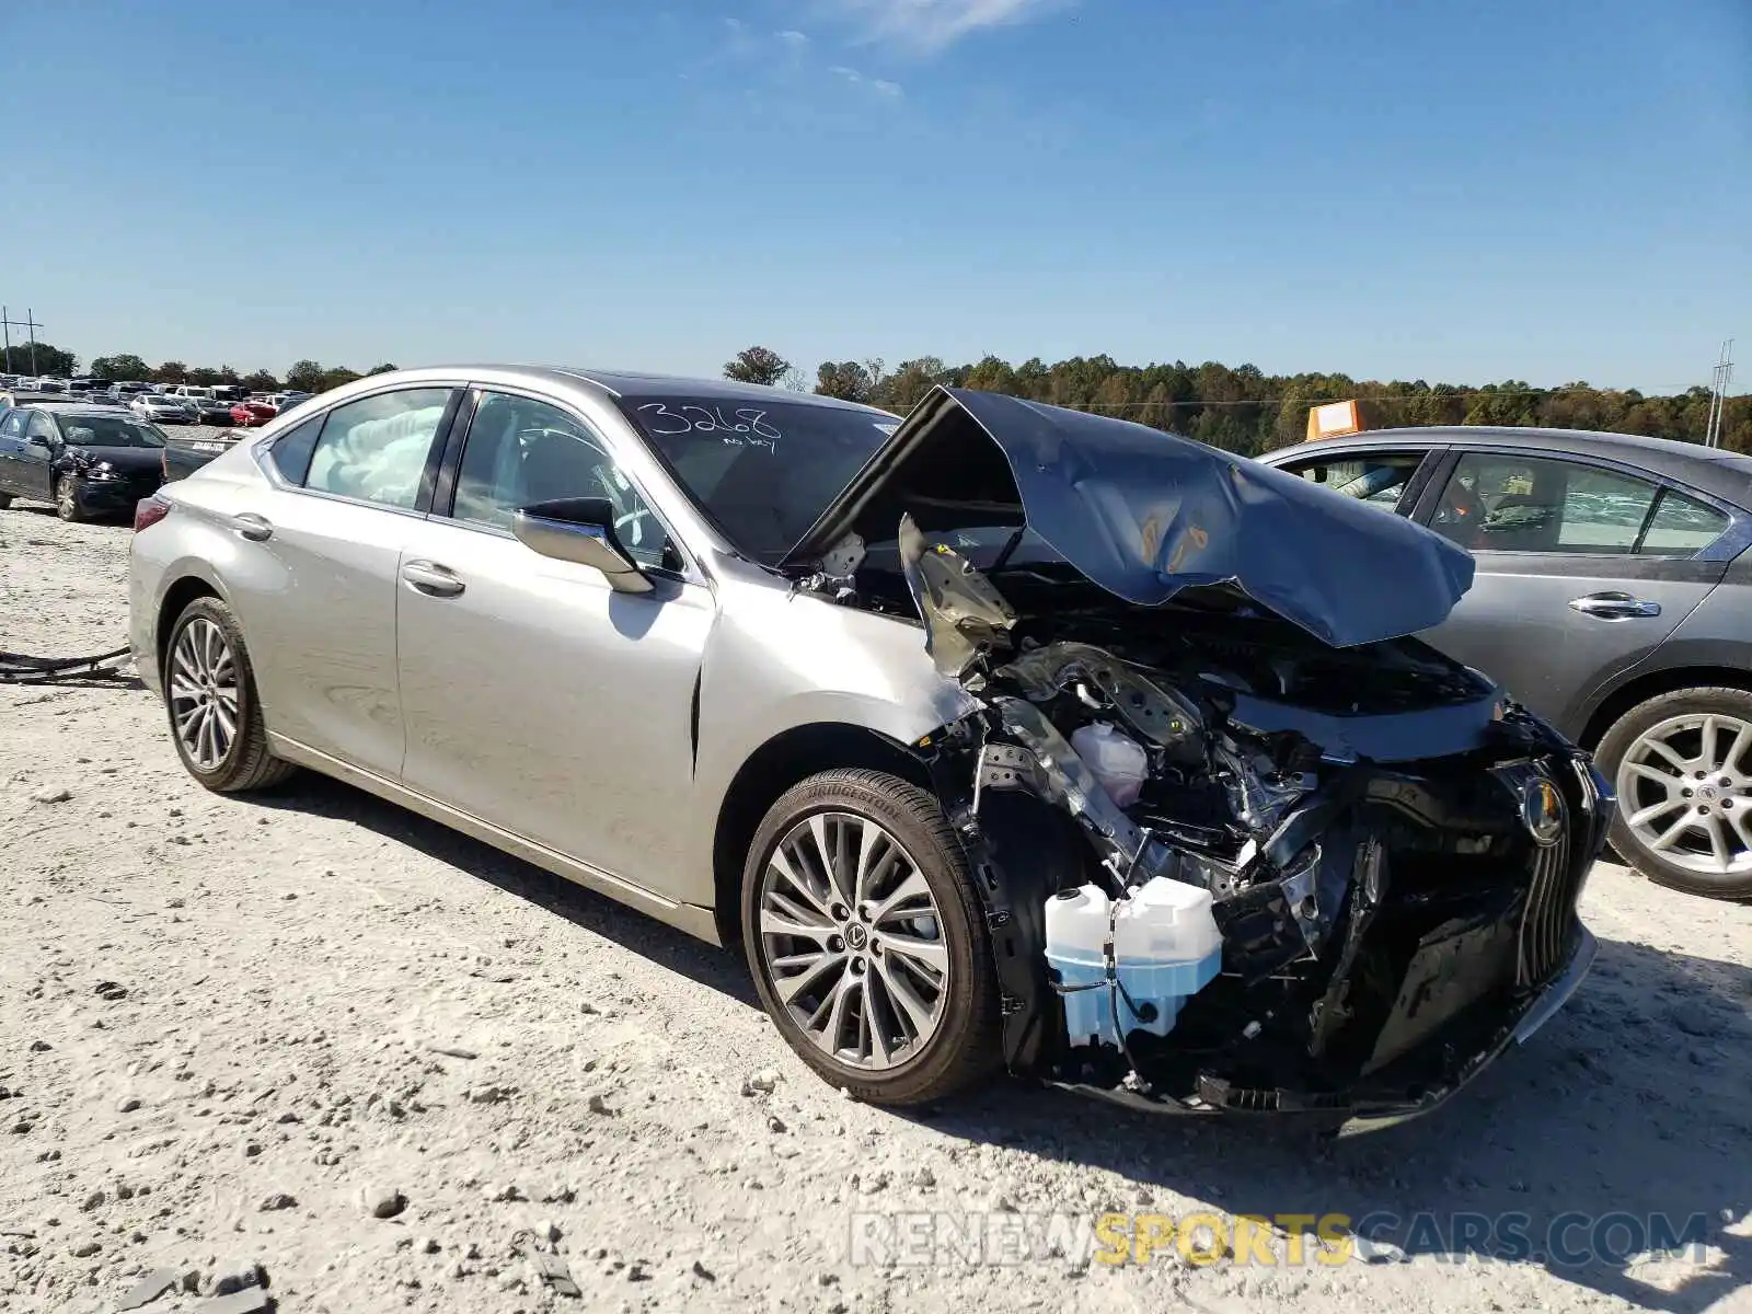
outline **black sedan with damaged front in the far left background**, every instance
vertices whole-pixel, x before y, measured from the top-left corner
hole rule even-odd
[[[131,517],[163,484],[165,433],[119,406],[42,403],[0,412],[0,508],[47,501],[63,520]]]

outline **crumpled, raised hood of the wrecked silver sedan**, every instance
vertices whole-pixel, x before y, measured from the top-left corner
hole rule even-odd
[[[1141,606],[1233,585],[1333,646],[1440,624],[1472,555],[1296,475],[1104,415],[934,389],[822,513],[787,564],[848,534],[1023,524]]]

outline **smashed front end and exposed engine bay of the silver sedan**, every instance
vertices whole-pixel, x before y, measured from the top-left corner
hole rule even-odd
[[[1011,1070],[1367,1114],[1494,1056],[1586,934],[1612,806],[1586,755],[1416,639],[1139,606],[1014,547],[988,576],[904,515],[802,585],[920,620],[979,704],[915,752],[986,899]]]

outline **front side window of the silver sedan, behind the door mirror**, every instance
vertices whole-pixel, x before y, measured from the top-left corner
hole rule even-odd
[[[520,506],[555,498],[606,498],[629,557],[652,569],[680,569],[682,557],[662,522],[594,433],[545,401],[482,392],[463,447],[452,515],[510,529]]]

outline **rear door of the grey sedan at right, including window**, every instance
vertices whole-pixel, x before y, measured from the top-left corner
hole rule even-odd
[[[1421,634],[1572,738],[1589,692],[1647,657],[1720,582],[1726,508],[1608,461],[1458,450],[1417,519],[1468,548],[1472,590]]]

